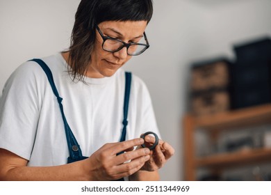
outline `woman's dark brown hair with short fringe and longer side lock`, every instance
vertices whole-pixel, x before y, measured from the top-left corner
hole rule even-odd
[[[69,47],[68,70],[72,79],[84,81],[91,63],[95,26],[105,21],[149,21],[153,13],[152,0],[82,0],[75,15]]]

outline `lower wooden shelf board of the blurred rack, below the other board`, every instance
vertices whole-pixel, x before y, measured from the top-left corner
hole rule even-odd
[[[271,159],[271,148],[247,149],[234,153],[222,153],[195,159],[197,167],[224,168],[255,162],[263,162]]]

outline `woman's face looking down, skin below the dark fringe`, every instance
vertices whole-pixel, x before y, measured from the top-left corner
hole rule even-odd
[[[104,36],[110,36],[111,38],[117,38],[124,42],[137,42],[142,38],[146,29],[146,21],[106,21],[101,22],[99,29]],[[88,68],[87,77],[102,78],[110,77],[115,72],[131,59],[131,56],[127,54],[126,47],[123,47],[118,52],[106,52],[102,49],[103,39],[101,35],[96,31],[95,47],[91,54],[91,63]]]

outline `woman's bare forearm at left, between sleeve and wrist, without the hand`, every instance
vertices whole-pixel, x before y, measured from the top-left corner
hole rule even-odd
[[[60,166],[17,166],[1,173],[1,180],[90,180],[80,163]]]

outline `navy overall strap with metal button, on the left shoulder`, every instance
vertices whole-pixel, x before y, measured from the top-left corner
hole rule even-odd
[[[63,118],[64,127],[65,127],[67,145],[68,145],[68,148],[69,148],[68,163],[69,162],[75,162],[75,161],[78,161],[80,159],[85,159],[86,157],[82,156],[82,152],[81,152],[81,148],[79,146],[79,143],[77,143],[76,138],[74,137],[74,134],[72,133],[72,130],[69,127],[69,124],[67,123],[67,120],[66,120],[66,117],[65,117],[65,114],[64,114],[64,111],[63,111],[63,104],[62,104],[63,98],[61,98],[59,93],[58,93],[58,90],[56,88],[56,84],[54,83],[54,77],[53,77],[53,75],[51,73],[50,68],[41,59],[32,59],[31,61],[35,61],[36,63],[38,63],[40,65],[40,67],[42,68],[42,70],[44,70],[45,74],[47,75],[48,81],[49,81],[49,83],[51,85],[51,88],[52,88],[52,90],[54,92],[54,95],[56,95],[56,98],[58,100],[58,104],[59,104],[59,107],[60,107],[60,111],[61,111],[61,115],[62,115],[62,118]]]

